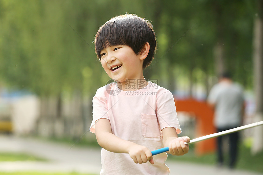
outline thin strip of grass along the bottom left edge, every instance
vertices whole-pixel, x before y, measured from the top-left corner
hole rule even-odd
[[[47,172],[0,172],[1,175],[94,175],[83,173],[47,173]]]

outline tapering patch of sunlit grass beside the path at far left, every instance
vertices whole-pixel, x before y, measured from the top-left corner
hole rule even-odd
[[[47,160],[26,153],[0,152],[0,162],[3,161],[47,161]]]

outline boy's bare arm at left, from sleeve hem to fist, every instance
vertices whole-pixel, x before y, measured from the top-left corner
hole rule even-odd
[[[135,163],[146,163],[149,160],[151,164],[154,164],[151,151],[147,147],[115,136],[108,119],[101,118],[96,121],[95,133],[98,144],[102,148],[110,152],[128,153]]]

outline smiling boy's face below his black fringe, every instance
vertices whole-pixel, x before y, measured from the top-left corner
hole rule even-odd
[[[116,82],[143,77],[143,59],[129,46],[110,46],[101,51],[101,64],[106,73]]]

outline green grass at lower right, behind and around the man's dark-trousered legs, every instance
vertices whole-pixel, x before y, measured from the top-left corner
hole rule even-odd
[[[228,155],[225,155],[224,157],[226,158],[225,164],[227,164]],[[194,154],[193,148],[190,148],[189,152],[183,156],[169,155],[168,159],[180,161],[180,162],[184,161],[184,162],[192,162],[192,163],[199,163],[199,164],[206,164],[213,166],[217,164],[216,153],[197,156]],[[250,148],[246,147],[245,145],[241,145],[239,147],[239,157],[237,160],[236,169],[263,173],[262,162],[263,162],[263,151],[257,155],[251,155]]]

